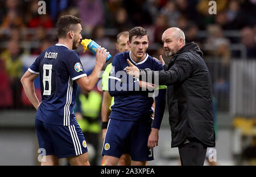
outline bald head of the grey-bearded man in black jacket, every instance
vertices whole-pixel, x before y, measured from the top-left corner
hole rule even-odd
[[[163,32],[162,41],[166,56],[170,57],[185,45],[185,35],[180,28],[168,28]]]

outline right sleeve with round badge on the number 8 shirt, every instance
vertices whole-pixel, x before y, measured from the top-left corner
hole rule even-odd
[[[84,68],[82,67],[79,55],[75,51],[68,53],[64,62],[73,81],[81,77],[87,76]]]

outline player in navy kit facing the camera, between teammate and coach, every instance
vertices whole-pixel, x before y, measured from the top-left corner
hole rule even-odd
[[[155,86],[129,78],[126,74],[128,61],[141,69],[163,70],[162,64],[146,53],[146,29],[131,29],[128,44],[131,50],[116,54],[110,70],[109,94],[114,96],[114,104],[102,148],[106,166],[117,165],[122,154],[130,154],[131,165],[145,165],[146,161],[152,161],[153,147],[158,145],[158,130],[164,113],[166,87],[158,87],[163,89],[155,95],[155,118],[152,122],[154,98],[149,96],[150,89],[143,91],[142,88]]]

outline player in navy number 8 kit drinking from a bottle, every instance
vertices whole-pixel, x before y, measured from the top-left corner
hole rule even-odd
[[[39,148],[46,151],[41,165],[59,165],[60,158],[67,158],[71,165],[90,165],[86,141],[74,115],[76,89],[78,84],[83,90],[92,90],[109,52],[97,49],[96,65],[87,76],[79,55],[73,50],[82,39],[80,23],[75,16],[61,16],[57,22],[59,42],[44,50],[21,79],[28,99],[37,110],[35,127]],[[41,103],[34,87],[38,76]]]

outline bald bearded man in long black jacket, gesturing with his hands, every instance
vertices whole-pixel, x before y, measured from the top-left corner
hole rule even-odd
[[[168,28],[162,41],[166,56],[172,57],[167,66],[160,56],[164,71],[139,70],[130,63],[126,72],[152,83],[159,78],[159,85],[168,86],[171,147],[179,147],[181,165],[204,165],[207,147],[215,146],[209,70],[198,45],[185,44],[181,29]]]

